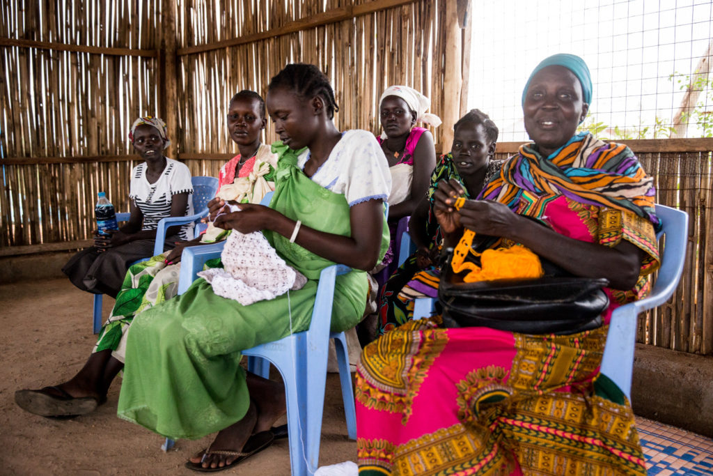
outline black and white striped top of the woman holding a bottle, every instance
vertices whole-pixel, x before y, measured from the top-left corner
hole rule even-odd
[[[190,181],[190,171],[183,163],[166,158],[166,168],[155,183],[146,179],[145,162],[133,168],[129,197],[143,213],[143,230],[155,230],[158,221],[171,215],[171,198],[177,193],[188,192],[186,215],[193,215],[193,184]],[[182,240],[193,237],[193,223],[184,225],[179,236]]]

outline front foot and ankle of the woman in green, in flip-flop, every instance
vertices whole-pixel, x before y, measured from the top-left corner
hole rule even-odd
[[[201,451],[198,455],[190,458],[190,462],[194,465],[202,467],[224,467],[235,461],[238,455],[222,455],[215,452],[229,451],[240,453],[245,442],[250,437],[257,421],[257,409],[255,403],[250,400],[250,407],[247,408],[247,413],[242,420],[236,422],[224,430],[220,430],[215,435],[215,440],[210,443],[210,446],[205,451]]]

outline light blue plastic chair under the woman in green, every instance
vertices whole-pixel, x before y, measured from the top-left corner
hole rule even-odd
[[[267,206],[271,198],[272,192],[262,199],[262,205]],[[184,293],[193,283],[205,261],[220,256],[224,245],[225,241],[222,241],[183,250],[179,294]],[[349,270],[351,268],[345,265],[332,265],[322,270],[309,330],[243,351],[243,355],[248,357],[247,367],[250,372],[267,378],[272,363],[282,375],[287,394],[287,431],[292,475],[312,475],[317,470],[329,339],[334,339],[337,350],[347,433],[349,438],[356,440],[356,408],[352,375],[349,373],[347,340],[344,333],[329,332],[335,279],[337,275],[348,273]],[[168,451],[173,445],[173,440],[166,438],[161,448]]]

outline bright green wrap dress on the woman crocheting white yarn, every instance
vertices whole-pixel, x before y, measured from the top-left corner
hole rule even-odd
[[[351,233],[342,194],[312,181],[297,167],[298,152],[275,143],[279,154],[270,207],[304,226]],[[385,219],[384,219],[385,222]],[[287,238],[265,232],[287,264],[308,281],[300,290],[243,306],[221,298],[203,279],[183,294],[137,315],[126,342],[119,417],[160,435],[196,439],[239,421],[250,404],[242,350],[309,328],[322,269],[332,261]],[[384,223],[379,259],[389,245]],[[332,330],[354,327],[364,313],[368,285],[360,270],[337,276]],[[290,324],[292,321],[292,324]]]

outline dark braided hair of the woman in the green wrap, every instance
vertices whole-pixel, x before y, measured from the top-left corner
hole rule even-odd
[[[288,64],[270,79],[270,85],[267,86],[268,91],[277,88],[294,91],[303,100],[319,96],[324,101],[324,108],[330,119],[334,118],[334,113],[339,111],[329,79],[314,64]]]

